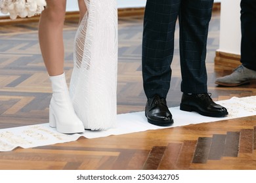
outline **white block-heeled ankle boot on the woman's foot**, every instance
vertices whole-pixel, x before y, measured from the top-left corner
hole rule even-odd
[[[60,133],[81,133],[85,131],[83,123],[75,114],[65,74],[50,76],[50,80],[53,97],[49,107],[49,125],[56,127],[56,130]]]

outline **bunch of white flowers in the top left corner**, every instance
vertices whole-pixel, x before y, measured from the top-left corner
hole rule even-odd
[[[46,7],[45,0],[0,0],[0,11],[10,14],[11,19],[32,17],[40,14]]]

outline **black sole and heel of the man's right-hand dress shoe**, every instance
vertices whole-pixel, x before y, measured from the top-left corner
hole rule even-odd
[[[209,116],[209,117],[224,117],[228,115],[228,112],[218,112],[218,113],[207,112],[207,111],[199,110],[197,107],[194,107],[192,105],[186,105],[182,103],[181,103],[180,109],[187,112],[192,112],[192,111],[198,112],[202,116]]]

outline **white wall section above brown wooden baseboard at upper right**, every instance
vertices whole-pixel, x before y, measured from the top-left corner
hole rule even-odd
[[[221,1],[220,52],[240,54],[240,0]]]

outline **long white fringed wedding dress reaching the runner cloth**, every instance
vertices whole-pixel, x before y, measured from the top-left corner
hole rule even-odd
[[[115,127],[117,115],[116,0],[85,0],[74,42],[70,96],[85,129]]]

